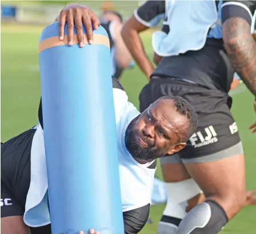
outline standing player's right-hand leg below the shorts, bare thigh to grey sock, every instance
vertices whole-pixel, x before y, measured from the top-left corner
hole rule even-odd
[[[246,201],[243,154],[213,162],[188,163],[186,167],[206,194],[206,202],[186,215],[177,234],[217,234]]]

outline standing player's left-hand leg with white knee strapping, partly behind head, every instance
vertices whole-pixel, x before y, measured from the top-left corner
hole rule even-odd
[[[159,79],[151,80],[141,91],[139,96],[140,111],[143,112],[157,98],[166,95],[176,95],[166,90],[166,82]],[[183,166],[178,154],[160,159],[162,166],[163,180],[167,187],[167,204],[158,226],[158,234],[175,234],[178,225],[191,208],[205,200],[200,188],[191,179],[186,168]]]

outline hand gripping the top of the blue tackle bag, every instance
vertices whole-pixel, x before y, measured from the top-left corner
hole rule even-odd
[[[93,44],[93,28],[97,30],[98,26],[101,25],[98,17],[94,14],[89,7],[70,4],[63,8],[57,18],[59,21],[59,40],[64,39],[64,27],[67,22],[67,39],[69,46],[73,46],[74,36],[74,23],[77,29],[77,38],[80,47],[85,45],[85,35],[83,34],[83,24],[86,28],[86,35],[89,44]],[[93,28],[91,26],[93,24]]]

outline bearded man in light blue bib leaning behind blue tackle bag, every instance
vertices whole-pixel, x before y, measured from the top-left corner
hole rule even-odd
[[[62,22],[60,37],[67,19],[68,42],[72,41],[70,36],[73,36],[75,20],[80,33],[78,40],[82,40],[83,35],[81,36],[79,29],[82,28],[82,19],[85,17],[88,17],[85,25],[91,27],[93,23],[93,27],[97,28],[98,19],[90,9],[66,7],[59,17]],[[87,27],[87,31],[92,44],[92,28]],[[143,228],[149,216],[155,159],[177,153],[185,147],[186,141],[197,129],[197,114],[182,97],[161,97],[145,112],[139,113],[114,78],[113,94],[123,223],[126,234],[135,234]],[[37,126],[1,144],[2,234],[51,233],[49,208],[47,199],[44,199],[47,198],[47,186],[42,186],[47,181],[42,101],[38,118]],[[46,210],[39,212],[36,207],[45,207]],[[80,233],[85,231],[87,230]],[[94,233],[94,230],[90,232]]]

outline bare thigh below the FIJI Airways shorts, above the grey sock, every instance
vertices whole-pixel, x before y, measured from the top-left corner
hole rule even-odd
[[[245,160],[243,154],[205,163],[188,163],[187,171],[207,199],[221,205],[231,219],[246,201]]]

